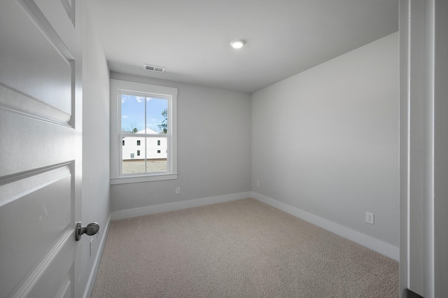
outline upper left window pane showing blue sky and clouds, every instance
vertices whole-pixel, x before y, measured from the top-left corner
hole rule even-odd
[[[145,129],[145,97],[121,94],[121,132]]]

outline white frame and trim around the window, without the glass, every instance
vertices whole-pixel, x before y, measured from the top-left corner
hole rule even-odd
[[[122,173],[121,93],[158,94],[168,98],[167,171]],[[111,185],[177,179],[177,88],[111,79]]]

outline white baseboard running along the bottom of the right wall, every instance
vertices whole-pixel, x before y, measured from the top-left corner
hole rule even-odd
[[[366,248],[370,248],[377,253],[381,253],[381,255],[386,255],[386,257],[390,257],[395,261],[400,260],[400,248],[389,243],[376,239],[372,236],[367,236],[366,234],[355,231],[354,229],[350,229],[349,227],[344,227],[343,225],[331,222],[330,220],[325,220],[324,218],[320,218],[311,213],[307,213],[306,211],[302,211],[299,208],[284,204],[281,201],[276,201],[275,199],[265,197],[262,194],[258,194],[257,192],[251,192],[251,197],[257,199],[258,201],[262,201],[269,206],[289,213],[296,218],[300,218],[302,220],[310,222],[313,225],[316,225],[353,242],[356,242],[362,246],[365,246]]]

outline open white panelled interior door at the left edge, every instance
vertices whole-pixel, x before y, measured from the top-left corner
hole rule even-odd
[[[81,297],[81,9],[0,1],[0,297]]]

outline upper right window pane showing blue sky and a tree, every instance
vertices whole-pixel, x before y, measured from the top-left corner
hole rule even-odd
[[[146,127],[148,129],[167,134],[169,129],[167,113],[168,99],[146,97]]]

